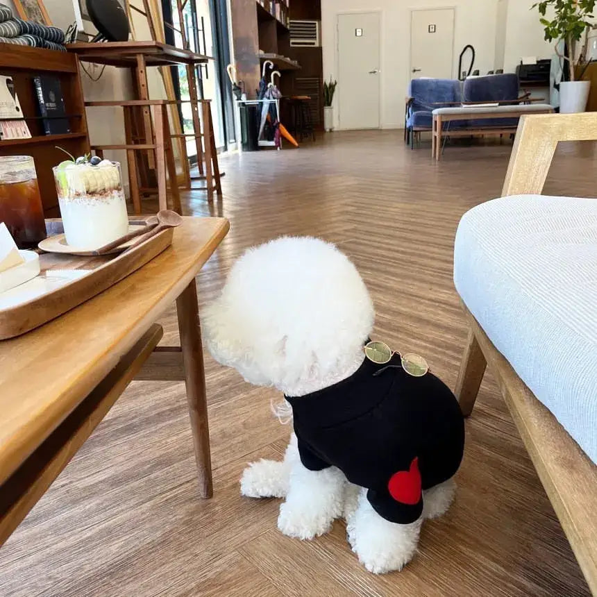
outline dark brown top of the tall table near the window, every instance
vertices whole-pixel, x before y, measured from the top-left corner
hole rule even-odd
[[[74,52],[79,60],[95,62],[99,65],[114,67],[134,67],[137,65],[137,55],[145,57],[146,65],[159,67],[164,65],[197,65],[213,60],[211,56],[196,54],[190,50],[183,50],[161,44],[160,42],[76,42],[67,44],[69,52]]]

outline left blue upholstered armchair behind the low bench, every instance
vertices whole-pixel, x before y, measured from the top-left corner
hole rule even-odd
[[[442,104],[453,106],[462,101],[460,81],[444,78],[415,78],[408,86],[405,113],[405,141],[414,147],[414,135],[420,131],[431,131],[432,110]]]

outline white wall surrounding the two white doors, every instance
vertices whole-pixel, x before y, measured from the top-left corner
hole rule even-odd
[[[475,68],[494,68],[498,0],[321,0],[323,74],[336,76],[337,15],[342,12],[381,12],[381,126],[404,124],[404,98],[410,81],[410,10],[455,7],[453,76],[466,44],[476,50]],[[519,0],[516,0],[519,1]],[[342,81],[338,81],[342,85]],[[335,126],[338,126],[335,110]]]

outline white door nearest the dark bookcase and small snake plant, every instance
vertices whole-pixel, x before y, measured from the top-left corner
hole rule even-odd
[[[379,45],[378,12],[338,15],[340,128],[379,128]]]

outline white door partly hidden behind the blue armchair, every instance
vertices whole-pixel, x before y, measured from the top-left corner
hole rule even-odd
[[[410,14],[410,78],[452,78],[454,9]]]

